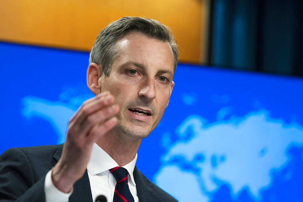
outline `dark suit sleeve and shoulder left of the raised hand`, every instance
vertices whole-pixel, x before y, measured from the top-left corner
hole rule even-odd
[[[0,155],[1,198],[43,201],[45,174],[55,165],[57,150],[58,145],[47,145],[4,151]]]

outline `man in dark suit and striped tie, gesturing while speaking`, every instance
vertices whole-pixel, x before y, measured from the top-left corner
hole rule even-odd
[[[92,201],[97,195],[127,201],[117,188],[125,178],[129,201],[176,201],[146,179],[135,161],[141,140],[168,105],[177,62],[175,39],[158,21],[125,17],[106,26],[87,70],[96,96],[70,119],[64,145],[1,155],[0,201]],[[121,167],[127,176],[116,183]]]

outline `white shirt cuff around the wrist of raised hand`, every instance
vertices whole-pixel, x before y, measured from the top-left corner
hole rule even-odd
[[[52,170],[48,171],[44,181],[44,193],[46,202],[68,202],[73,189],[69,193],[58,190],[52,182]]]

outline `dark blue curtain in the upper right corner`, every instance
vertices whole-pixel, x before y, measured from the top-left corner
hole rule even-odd
[[[211,0],[208,65],[303,76],[302,0]]]

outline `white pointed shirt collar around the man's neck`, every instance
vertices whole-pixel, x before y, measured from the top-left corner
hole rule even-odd
[[[131,162],[122,166],[128,171],[134,184],[135,180],[133,172],[136,165],[137,156],[138,154],[136,154],[135,158]],[[99,147],[98,144],[93,144],[91,157],[87,164],[87,170],[92,176],[104,171],[108,171],[109,169],[117,166],[119,165],[114,159],[112,159],[110,155],[108,155],[101,147]]]

